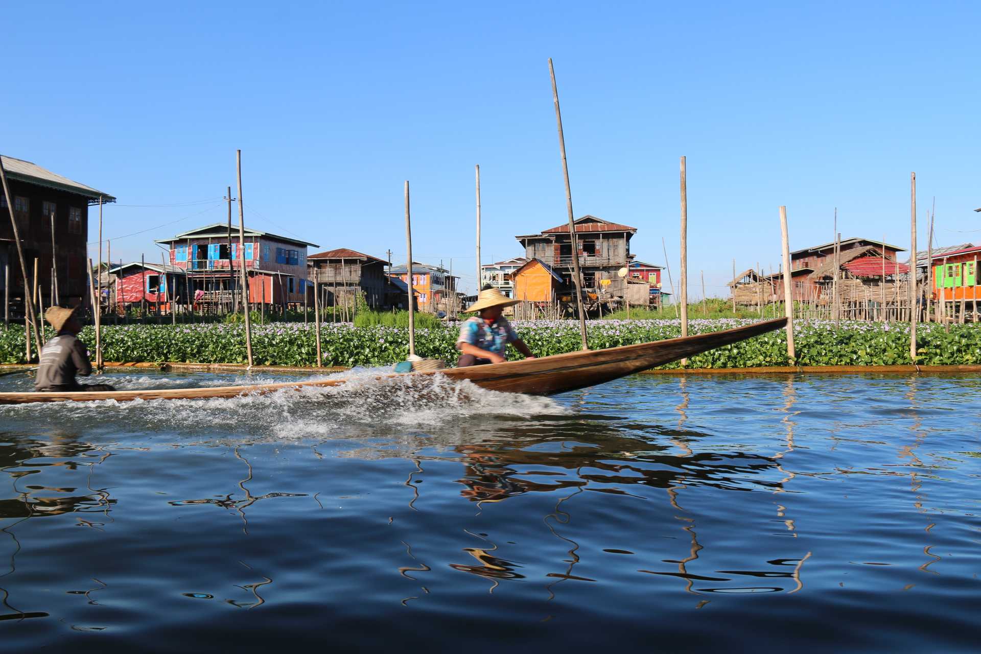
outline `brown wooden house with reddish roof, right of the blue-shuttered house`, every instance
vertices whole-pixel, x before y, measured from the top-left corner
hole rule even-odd
[[[323,284],[328,293],[352,295],[364,293],[365,301],[372,309],[386,306],[387,262],[341,247],[318,252],[307,257],[308,278]],[[336,298],[328,298],[328,304]]]

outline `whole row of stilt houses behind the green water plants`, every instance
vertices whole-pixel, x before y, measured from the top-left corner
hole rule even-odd
[[[92,306],[98,295],[103,312],[122,315],[128,308],[158,315],[194,311],[235,311],[241,297],[241,267],[248,285],[248,301],[265,311],[297,310],[313,306],[313,293],[324,307],[355,307],[363,298],[368,307],[388,310],[407,307],[411,283],[416,308],[440,317],[455,317],[472,301],[458,290],[453,271],[432,262],[413,262],[412,278],[405,263],[345,247],[325,251],[298,238],[246,227],[239,252],[238,226],[214,223],[198,226],[154,241],[160,261],[111,261],[111,250],[92,286],[87,242],[92,239],[92,209],[116,201],[97,190],[40,166],[3,157],[14,217],[24,248],[29,292],[41,303]],[[6,198],[0,208],[8,214]],[[97,221],[98,214],[95,214]],[[231,216],[231,211],[230,211]],[[96,223],[96,225],[98,225]],[[637,259],[631,239],[637,227],[595,216],[575,221],[584,301],[591,313],[632,307],[660,307],[669,303],[673,288],[665,287],[664,267]],[[569,225],[543,228],[515,236],[515,256],[481,266],[481,286],[493,286],[510,298],[519,318],[562,317],[574,304],[573,251]],[[111,247],[111,246],[110,246]],[[864,306],[874,311],[895,298],[906,297],[909,261],[905,250],[875,239],[852,237],[822,243],[791,253],[790,276],[794,299],[811,306],[829,306],[832,291],[844,310]],[[916,274],[925,280],[933,269],[934,295],[952,302],[976,300],[977,257],[981,246],[962,243],[917,252]],[[931,261],[932,260],[932,261]],[[932,266],[931,266],[932,263]],[[13,228],[0,221],[0,268],[4,320],[24,315],[25,287],[15,249]],[[97,267],[97,266],[96,266]],[[670,271],[668,271],[670,273]],[[95,277],[95,276],[92,276]],[[783,272],[764,274],[746,270],[729,283],[735,306],[762,306],[784,300]],[[316,289],[316,290],[315,290]]]

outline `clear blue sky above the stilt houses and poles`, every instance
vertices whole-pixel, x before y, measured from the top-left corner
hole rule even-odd
[[[555,63],[577,216],[639,228],[690,293],[843,237],[981,242],[978,3],[11,3],[0,152],[113,193],[114,260],[225,220],[242,150],[248,226],[474,283],[484,258],[566,220]],[[191,204],[198,203],[200,204]],[[182,205],[182,206],[134,206]],[[90,238],[97,238],[92,223]],[[973,231],[972,231],[973,230]],[[142,233],[132,234],[136,231]],[[91,249],[94,258],[97,248]]]

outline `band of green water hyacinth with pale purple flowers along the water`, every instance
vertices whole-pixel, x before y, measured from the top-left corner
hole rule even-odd
[[[742,327],[748,319],[706,319],[689,323],[697,334]],[[575,352],[579,349],[579,327],[575,321],[515,321],[528,346],[539,356]],[[631,345],[681,335],[677,320],[604,320],[587,326],[592,349]],[[458,327],[452,325],[416,329],[416,352],[452,362]],[[800,366],[879,366],[909,364],[909,326],[843,322],[836,329],[831,321],[800,321],[795,340]],[[46,336],[53,336],[50,328]],[[91,348],[92,327],[81,339]],[[103,352],[110,362],[244,363],[245,336],[237,325],[133,325],[105,326]],[[350,323],[321,325],[325,365],[384,366],[403,361],[409,353],[405,327],[354,327]],[[252,327],[252,349],[259,365],[313,366],[317,357],[314,326],[273,323]],[[953,325],[950,330],[928,324],[917,329],[916,363],[920,365],[964,365],[981,363],[981,325]],[[513,350],[512,358],[520,358]],[[692,368],[751,368],[786,366],[786,333],[772,331],[733,345],[692,357]],[[24,363],[24,327],[0,325],[0,363]],[[668,364],[665,368],[677,368]]]

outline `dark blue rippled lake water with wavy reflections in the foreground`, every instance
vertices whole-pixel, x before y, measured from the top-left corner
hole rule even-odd
[[[979,424],[977,376],[0,407],[0,649],[977,651]]]

